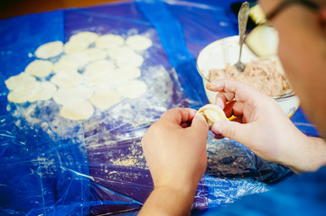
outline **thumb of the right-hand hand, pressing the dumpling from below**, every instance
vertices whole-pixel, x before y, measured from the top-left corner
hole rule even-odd
[[[211,126],[211,131],[216,135],[222,135],[228,139],[243,143],[250,136],[246,124],[237,121],[219,121]]]

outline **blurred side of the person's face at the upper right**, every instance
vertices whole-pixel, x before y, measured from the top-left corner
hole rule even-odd
[[[312,11],[292,4],[270,21],[279,34],[278,56],[303,111],[326,138],[326,1]],[[260,0],[265,14],[284,0]]]

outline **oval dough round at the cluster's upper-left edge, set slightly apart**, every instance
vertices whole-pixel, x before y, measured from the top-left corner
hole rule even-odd
[[[63,52],[63,43],[61,41],[53,41],[45,43],[35,51],[37,58],[52,58],[59,56]]]

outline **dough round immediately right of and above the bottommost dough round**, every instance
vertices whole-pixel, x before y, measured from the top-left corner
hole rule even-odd
[[[106,110],[113,104],[118,103],[120,100],[120,94],[110,89],[100,89],[90,97],[91,103],[101,110]]]

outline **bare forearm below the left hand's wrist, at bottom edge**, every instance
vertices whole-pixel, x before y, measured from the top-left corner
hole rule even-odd
[[[196,188],[155,188],[139,215],[190,215]]]

